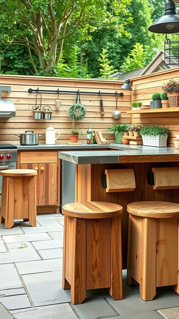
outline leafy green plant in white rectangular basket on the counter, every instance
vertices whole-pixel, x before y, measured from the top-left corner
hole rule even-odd
[[[146,146],[167,146],[169,130],[167,127],[158,125],[146,125],[140,129],[143,145]]]

